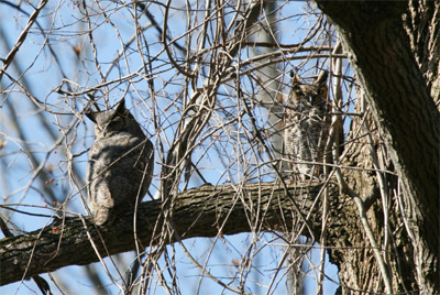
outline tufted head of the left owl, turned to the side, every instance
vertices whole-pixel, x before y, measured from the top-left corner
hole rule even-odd
[[[142,129],[134,117],[125,109],[125,99],[118,102],[114,110],[107,112],[86,112],[95,123],[95,134],[97,139],[106,139],[121,132],[133,135],[144,135]]]

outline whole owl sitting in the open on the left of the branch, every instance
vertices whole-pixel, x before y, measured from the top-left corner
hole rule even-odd
[[[112,211],[133,207],[152,179],[153,144],[124,105],[122,99],[113,111],[86,113],[95,122],[87,182],[97,225],[109,220]]]

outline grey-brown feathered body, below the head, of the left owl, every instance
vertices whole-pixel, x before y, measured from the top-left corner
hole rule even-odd
[[[146,194],[153,174],[153,144],[124,134],[95,142],[88,163],[89,205],[97,225]]]

